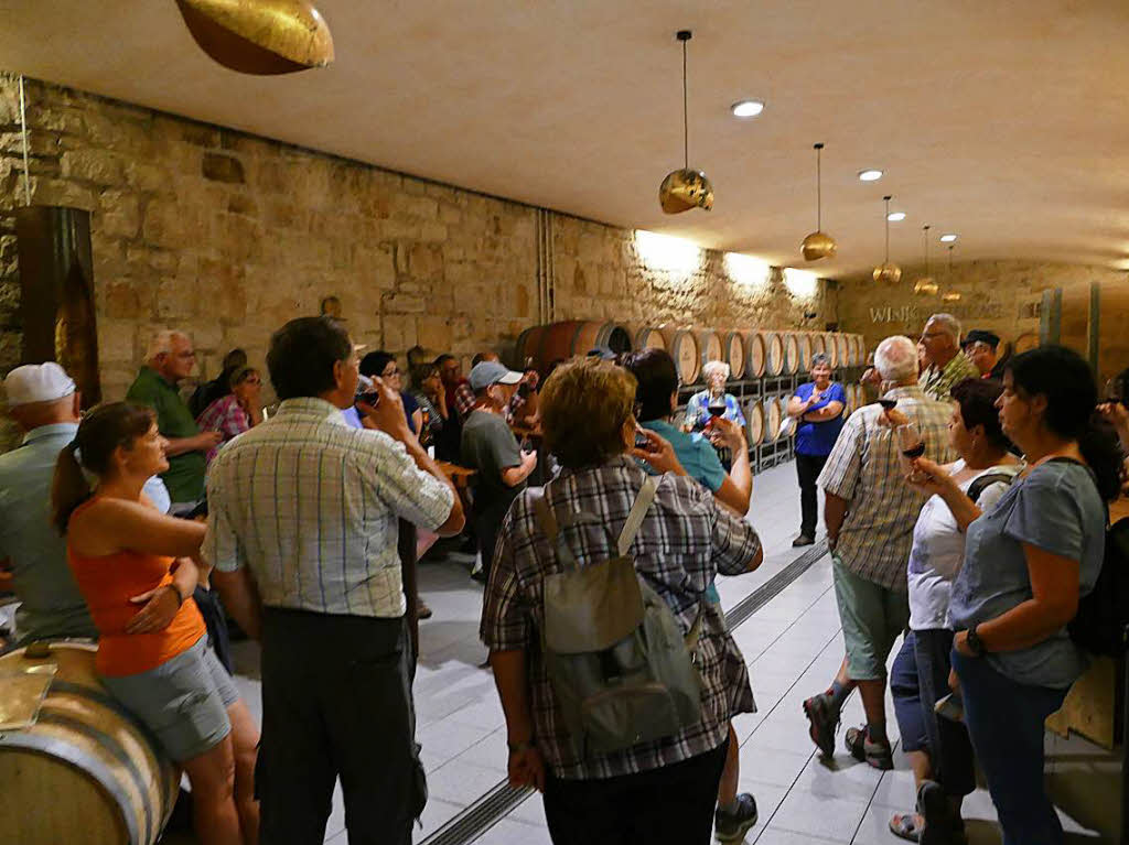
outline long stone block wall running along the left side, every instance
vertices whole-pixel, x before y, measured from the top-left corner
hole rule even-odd
[[[271,331],[316,314],[331,294],[358,342],[463,357],[505,351],[550,317],[820,328],[834,320],[822,283],[799,297],[779,271],[767,284],[737,283],[717,253],[690,274],[651,270],[630,230],[35,80],[26,93],[32,201],[93,211],[111,399],[158,327],[189,331],[200,375],[211,377],[231,346],[262,362]],[[24,199],[17,79],[7,74],[0,156],[3,372],[19,355],[14,220],[5,211]]]

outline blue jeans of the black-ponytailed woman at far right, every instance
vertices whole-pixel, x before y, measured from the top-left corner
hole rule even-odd
[[[1061,845],[1062,825],[1043,785],[1043,722],[1062,706],[1067,690],[1018,684],[986,659],[955,649],[952,660],[1004,845]]]

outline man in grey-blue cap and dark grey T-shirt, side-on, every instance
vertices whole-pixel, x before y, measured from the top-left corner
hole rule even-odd
[[[483,360],[471,370],[474,406],[463,423],[460,454],[465,466],[478,470],[471,484],[482,569],[475,569],[473,578],[483,582],[490,576],[495,543],[506,511],[537,466],[537,454],[522,451],[506,423],[506,408],[520,380],[520,372],[497,361]]]

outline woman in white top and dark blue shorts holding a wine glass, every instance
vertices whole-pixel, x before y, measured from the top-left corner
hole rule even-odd
[[[960,722],[938,718],[935,707],[948,693],[948,604],[964,561],[964,532],[972,519],[995,507],[1019,469],[996,412],[1003,391],[995,380],[954,385],[948,444],[960,459],[938,466],[922,458],[907,479],[933,498],[913,527],[907,566],[910,631],[890,674],[902,750],[917,786],[917,812],[895,815],[890,829],[924,845],[963,840],[961,803],[977,787],[968,731]],[[972,503],[975,507],[969,508]]]

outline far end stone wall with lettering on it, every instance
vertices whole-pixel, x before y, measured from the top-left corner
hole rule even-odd
[[[842,331],[866,336],[867,346],[892,334],[918,336],[925,320],[935,311],[948,311],[964,327],[987,328],[1006,341],[1021,334],[1039,333],[1042,293],[1062,288],[1064,298],[1073,301],[1084,296],[1088,301],[1091,282],[1124,287],[1129,273],[1105,267],[1049,264],[1019,261],[955,262],[952,278],[946,267],[933,265],[931,275],[940,285],[937,296],[919,297],[913,282],[924,275],[921,265],[902,265],[896,284],[876,283],[870,274],[852,275],[839,282],[838,314]],[[940,294],[956,291],[956,302],[942,301]]]

